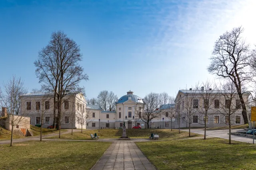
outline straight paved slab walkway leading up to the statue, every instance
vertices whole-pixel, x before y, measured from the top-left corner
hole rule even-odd
[[[112,143],[91,170],[156,170],[133,141]]]

